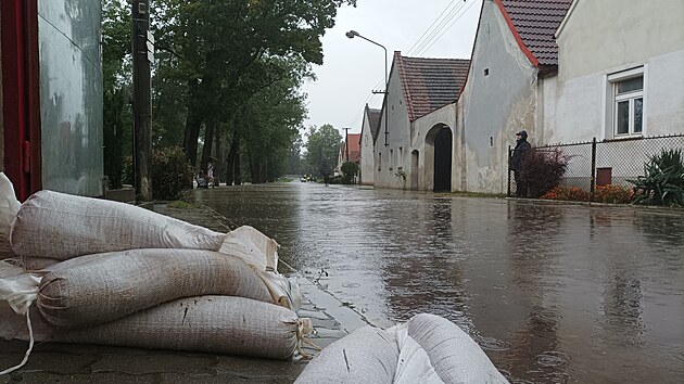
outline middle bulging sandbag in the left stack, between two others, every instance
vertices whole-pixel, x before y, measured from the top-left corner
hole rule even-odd
[[[116,320],[180,297],[225,295],[274,303],[244,261],[212,251],[131,249],[87,255],[50,267],[36,302],[58,328]]]

